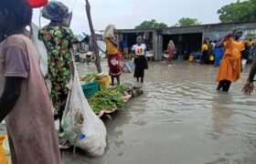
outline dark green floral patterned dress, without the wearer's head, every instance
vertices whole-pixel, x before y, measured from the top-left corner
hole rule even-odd
[[[51,81],[51,99],[56,112],[63,112],[71,77],[72,44],[75,37],[69,28],[46,26],[39,31],[41,39],[48,49],[48,79]],[[61,116],[59,116],[61,117]]]

